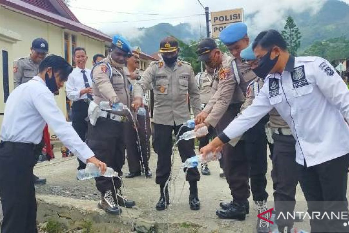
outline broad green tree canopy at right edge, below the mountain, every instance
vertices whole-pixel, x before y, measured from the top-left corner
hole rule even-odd
[[[326,41],[316,41],[303,52],[302,56],[322,57],[330,62],[335,59],[349,58],[349,40],[342,36]]]

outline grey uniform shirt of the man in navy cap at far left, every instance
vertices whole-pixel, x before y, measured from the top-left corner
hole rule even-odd
[[[28,82],[38,74],[39,63],[34,63],[31,57],[23,57],[13,62],[13,80],[15,88]]]

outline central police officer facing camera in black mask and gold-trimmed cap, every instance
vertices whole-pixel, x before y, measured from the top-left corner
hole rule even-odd
[[[172,131],[177,135],[181,125],[190,119],[187,94],[196,116],[200,112],[200,93],[196,85],[193,68],[178,59],[178,41],[166,37],[160,42],[162,60],[152,62],[134,87],[135,108],[142,105],[144,92],[154,87],[154,146],[158,154],[156,179],[160,185],[160,199],[157,210],[164,210],[169,204],[166,181],[171,173]],[[179,134],[188,131],[184,127]],[[184,162],[192,157],[194,140],[181,140],[179,154]],[[186,170],[186,169],[185,169]],[[186,180],[190,184],[189,205],[192,210],[200,209],[197,182],[200,180],[198,168],[189,168]]]

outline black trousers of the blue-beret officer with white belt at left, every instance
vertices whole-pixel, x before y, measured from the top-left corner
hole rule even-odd
[[[88,133],[87,145],[95,153],[96,158],[105,162],[107,167],[118,172],[119,177],[96,177],[98,191],[104,193],[108,190],[114,192],[115,187],[121,187],[122,165],[124,163],[124,122],[117,122],[104,117],[97,119],[96,125],[91,127]]]

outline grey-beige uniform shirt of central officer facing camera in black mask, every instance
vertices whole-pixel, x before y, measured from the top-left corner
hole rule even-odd
[[[190,63],[177,60],[172,69],[163,60],[153,61],[136,82],[133,93],[135,97],[143,97],[150,89],[154,90],[156,124],[181,125],[190,119],[187,94],[194,116],[201,111],[199,88]]]

